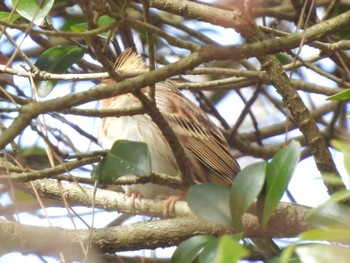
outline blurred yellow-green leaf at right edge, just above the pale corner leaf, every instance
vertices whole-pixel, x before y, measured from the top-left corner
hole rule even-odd
[[[302,240],[350,243],[350,230],[344,228],[317,228],[299,235]]]

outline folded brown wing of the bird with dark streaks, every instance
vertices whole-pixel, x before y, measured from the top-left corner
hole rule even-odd
[[[230,185],[240,167],[222,133],[173,82],[161,82],[156,87],[157,105],[183,146],[219,176],[220,180],[213,181]]]

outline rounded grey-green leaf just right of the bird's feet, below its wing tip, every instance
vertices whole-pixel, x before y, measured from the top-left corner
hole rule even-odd
[[[229,189],[217,184],[198,184],[190,187],[187,202],[197,216],[217,224],[231,226]]]

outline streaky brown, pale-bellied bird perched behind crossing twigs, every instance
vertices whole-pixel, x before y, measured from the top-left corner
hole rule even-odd
[[[115,62],[115,70],[147,69],[139,54],[124,50]],[[111,83],[108,80],[106,83]],[[141,91],[149,95],[150,88]],[[225,137],[208,115],[177,89],[172,80],[155,84],[155,102],[159,112],[174,131],[185,151],[190,176],[194,183],[216,183],[229,187],[240,171]],[[140,107],[141,102],[132,93],[101,100],[101,109]],[[148,145],[152,170],[178,176],[175,156],[161,130],[147,114],[101,118],[98,141],[102,148],[110,149],[116,140],[145,142]],[[181,196],[183,191],[155,183],[125,185],[127,193],[142,198]],[[177,200],[175,199],[175,202]]]

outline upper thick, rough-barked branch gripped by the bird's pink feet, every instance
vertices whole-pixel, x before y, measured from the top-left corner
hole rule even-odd
[[[60,194],[58,182],[52,180],[37,180],[33,181],[32,184],[35,186],[40,196],[45,199],[62,200],[63,198]],[[63,189],[62,192],[64,194],[64,198],[71,206],[78,205],[91,207],[93,200],[92,187],[85,187],[83,185],[78,186],[74,183],[67,182],[60,182],[60,184]],[[19,187],[27,192],[32,192],[32,188],[28,183],[17,184],[16,187]],[[123,194],[98,189],[95,197],[95,207],[107,211],[119,211],[123,213],[147,215],[150,217],[161,217],[164,210],[164,201],[142,199],[141,201],[137,200],[132,206],[130,201],[125,200],[125,196]],[[285,236],[285,234],[283,234],[285,231],[296,234],[302,229],[305,229],[306,224],[303,221],[303,216],[307,210],[308,208],[303,206],[281,203],[276,210],[275,217],[271,219],[270,225],[272,229],[278,228],[282,232],[271,230],[272,232],[270,235],[283,237]],[[176,202],[174,211],[170,211],[171,217],[188,217],[191,215],[193,214],[187,206],[187,203],[182,201]],[[247,214],[243,219],[243,221],[247,220],[245,232],[249,236],[260,235],[262,232],[261,230],[258,230],[258,221],[255,216],[254,220],[252,221],[251,217],[252,215]],[[288,225],[288,227],[286,227],[286,225]]]

